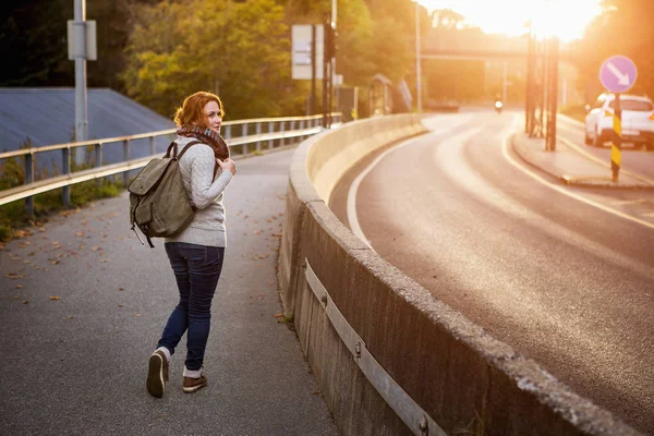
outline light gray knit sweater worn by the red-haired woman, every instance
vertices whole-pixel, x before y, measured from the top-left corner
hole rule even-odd
[[[178,136],[175,141],[181,152],[186,144],[196,140]],[[214,150],[205,144],[193,145],[180,159],[179,169],[184,187],[197,209],[189,227],[175,237],[166,238],[166,242],[227,246],[222,192],[232,180],[232,173],[218,168],[216,180],[211,182],[215,162]]]

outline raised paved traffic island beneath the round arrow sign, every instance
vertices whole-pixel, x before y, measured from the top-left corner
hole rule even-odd
[[[580,187],[654,190],[654,181],[623,169],[617,182],[611,179],[610,162],[601,164],[584,156],[582,145],[557,140],[556,152],[545,150],[545,138],[530,138],[523,132],[511,137],[513,150],[529,165],[562,184]],[[654,161],[654,159],[653,159]]]

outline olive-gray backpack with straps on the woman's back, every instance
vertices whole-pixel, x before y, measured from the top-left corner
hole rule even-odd
[[[130,222],[142,244],[145,245],[134,227],[138,227],[154,249],[150,238],[173,237],[193,219],[195,207],[184,189],[179,159],[195,144],[202,143],[192,141],[178,155],[178,144],[173,141],[166,155],[150,160],[128,186]]]

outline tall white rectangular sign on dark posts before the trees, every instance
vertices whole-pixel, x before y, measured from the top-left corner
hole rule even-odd
[[[316,25],[316,57],[315,57],[315,78],[323,78],[323,49],[324,32],[323,25]],[[312,46],[312,25],[295,24],[292,28],[292,65],[291,75],[294,80],[311,80],[311,46]]]

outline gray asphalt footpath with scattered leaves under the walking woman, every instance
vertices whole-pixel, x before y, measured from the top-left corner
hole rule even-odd
[[[147,360],[177,287],[141,245],[126,195],[61,215],[0,250],[3,435],[337,435],[295,334],[280,323],[277,250],[292,150],[238,160],[213,306],[209,386],[182,392],[185,339],[162,399]],[[277,315],[277,316],[276,316]]]

